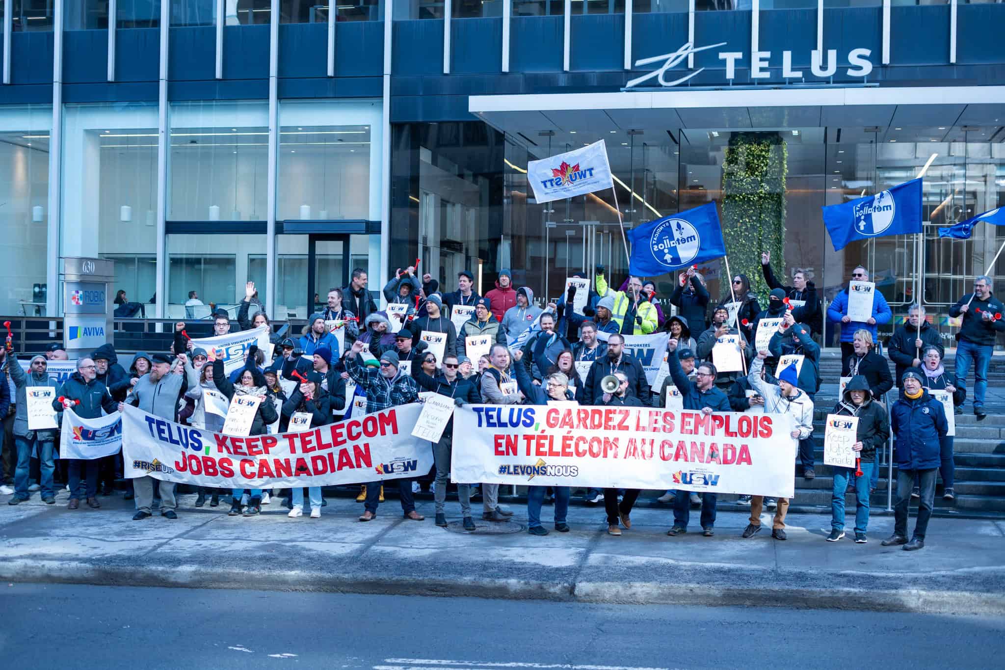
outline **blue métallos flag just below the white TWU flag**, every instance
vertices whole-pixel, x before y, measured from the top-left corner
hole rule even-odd
[[[656,276],[726,255],[716,203],[650,221],[628,231],[628,271]]]

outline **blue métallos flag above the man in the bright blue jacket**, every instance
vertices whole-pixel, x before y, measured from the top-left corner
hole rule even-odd
[[[850,242],[922,232],[922,180],[913,179],[874,196],[821,207],[834,251]]]

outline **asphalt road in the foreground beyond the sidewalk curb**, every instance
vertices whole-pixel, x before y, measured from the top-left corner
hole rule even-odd
[[[972,670],[1003,652],[1005,618],[0,584],[6,668]]]

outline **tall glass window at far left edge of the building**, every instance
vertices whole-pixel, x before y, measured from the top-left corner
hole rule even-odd
[[[0,313],[45,312],[51,124],[49,105],[0,107]]]

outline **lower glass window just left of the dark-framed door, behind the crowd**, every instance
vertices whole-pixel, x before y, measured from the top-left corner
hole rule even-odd
[[[168,235],[168,301],[165,315],[182,318],[189,292],[203,304],[229,309],[244,298],[244,284],[255,281],[265,302],[265,279],[248,275],[249,258],[265,253],[264,235]]]

